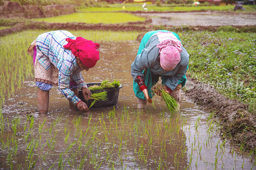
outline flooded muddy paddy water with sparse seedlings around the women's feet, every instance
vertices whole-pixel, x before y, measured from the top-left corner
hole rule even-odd
[[[130,64],[138,46],[101,43],[100,61],[83,73],[85,82],[121,80],[115,108],[69,110],[68,100],[53,87],[49,114],[39,115],[35,83],[24,82],[2,108],[1,169],[254,169],[253,154],[220,137],[218,119],[184,94],[180,115],[171,118],[159,97],[154,97],[156,109],[149,104],[136,109]]]

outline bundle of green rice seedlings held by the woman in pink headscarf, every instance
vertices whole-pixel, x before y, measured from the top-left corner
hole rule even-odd
[[[162,93],[162,100],[166,103],[166,106],[168,107],[169,111],[174,114],[176,111],[179,111],[179,106],[177,104],[177,101],[167,92],[165,92],[166,87],[162,84],[157,83],[154,85],[151,89],[153,92],[161,92]]]

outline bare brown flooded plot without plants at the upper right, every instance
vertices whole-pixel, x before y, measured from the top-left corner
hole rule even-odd
[[[141,14],[152,18],[154,25],[169,26],[230,26],[255,25],[255,15],[223,14],[218,12],[178,12]]]

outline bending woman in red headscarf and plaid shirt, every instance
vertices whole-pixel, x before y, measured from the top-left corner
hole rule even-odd
[[[60,92],[69,100],[69,106],[76,106],[88,112],[87,105],[78,96],[78,87],[84,97],[90,98],[81,71],[88,71],[99,60],[100,45],[82,37],[76,37],[64,30],[40,34],[28,48],[33,55],[35,81],[38,89],[39,112],[47,114],[49,91],[58,85]]]

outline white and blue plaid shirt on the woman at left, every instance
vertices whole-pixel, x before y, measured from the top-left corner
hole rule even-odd
[[[54,65],[59,70],[59,90],[60,92],[74,104],[80,99],[76,97],[68,86],[70,77],[78,84],[79,87],[87,87],[81,74],[81,69],[77,65],[76,57],[71,50],[63,48],[68,42],[66,38],[75,39],[76,37],[68,31],[58,30],[40,34],[37,37],[36,46],[39,55],[38,62],[48,70]]]

